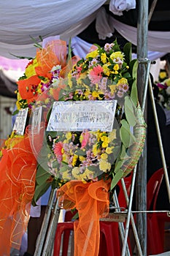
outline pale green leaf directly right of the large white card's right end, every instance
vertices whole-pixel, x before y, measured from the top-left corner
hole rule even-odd
[[[131,98],[126,96],[125,97],[125,117],[128,121],[128,124],[131,127],[134,127],[136,124],[136,116],[134,114],[134,104],[131,101]]]

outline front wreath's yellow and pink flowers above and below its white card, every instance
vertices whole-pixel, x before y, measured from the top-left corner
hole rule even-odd
[[[139,124],[139,120],[135,116],[134,102],[137,104],[137,100],[133,102],[130,99],[135,83],[132,76],[135,60],[131,61],[130,49],[130,44],[125,45],[124,52],[122,52],[116,40],[112,44],[106,44],[104,48],[93,45],[85,59],[77,61],[65,79],[58,77],[50,84],[45,91],[48,99],[53,98],[53,100],[62,102],[116,99],[117,108],[112,132],[100,130],[96,132],[89,130],[82,132],[46,131],[37,178],[42,178],[45,170],[48,170],[53,177],[51,181],[55,184],[54,186],[61,187],[70,180],[80,180],[86,183],[111,177],[111,187],[115,187],[117,184],[115,174],[121,167],[124,168],[125,163],[128,166],[128,160],[131,159],[133,151],[132,145],[136,145],[136,140],[138,140],[131,132],[131,127]],[[57,98],[54,99],[52,91],[58,91]],[[49,101],[51,106],[53,100]],[[36,105],[39,105],[37,102],[39,102],[39,97],[36,100]],[[49,116],[50,112],[47,116],[47,123]],[[139,151],[141,150],[142,144]],[[137,159],[139,158],[137,157],[135,162]],[[132,169],[131,165],[128,171]],[[37,190],[39,190],[38,187]],[[35,198],[39,195],[35,192]]]

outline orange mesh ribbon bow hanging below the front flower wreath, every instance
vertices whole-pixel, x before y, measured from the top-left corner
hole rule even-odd
[[[63,208],[77,208],[79,213],[79,221],[74,222],[74,256],[98,255],[99,219],[109,211],[109,187],[110,180],[69,181],[58,189]]]

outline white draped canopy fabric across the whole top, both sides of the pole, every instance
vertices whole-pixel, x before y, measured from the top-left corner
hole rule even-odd
[[[95,19],[99,37],[109,37],[117,29],[125,39],[136,44],[135,28],[127,27],[104,13],[103,4],[106,4],[105,0],[1,2],[0,56],[10,59],[15,58],[10,53],[16,56],[35,56],[36,48],[31,37],[38,40],[39,36],[45,39],[60,35],[61,39],[69,40],[80,34]],[[135,7],[135,0],[109,1],[109,10],[116,15],[122,15],[124,10]],[[148,49],[167,53],[170,50],[169,39],[170,32],[149,31]]]

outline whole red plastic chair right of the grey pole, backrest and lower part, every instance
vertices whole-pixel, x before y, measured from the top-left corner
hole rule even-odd
[[[147,210],[155,211],[158,192],[163,180],[163,168],[155,171],[147,182]],[[158,222],[158,213],[147,214],[147,254],[163,252],[163,225]]]

